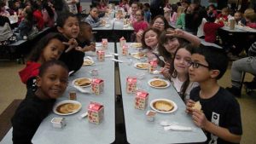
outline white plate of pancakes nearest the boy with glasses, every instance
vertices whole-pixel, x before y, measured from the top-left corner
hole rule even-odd
[[[175,102],[167,99],[155,99],[150,102],[150,107],[161,113],[171,113],[177,110],[177,105]]]

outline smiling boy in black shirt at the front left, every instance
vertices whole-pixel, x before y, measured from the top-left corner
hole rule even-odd
[[[58,60],[49,60],[39,69],[35,93],[26,95],[11,119],[13,125],[13,143],[32,143],[32,136],[47,117],[67,88],[68,69]],[[29,97],[29,98],[28,98]]]

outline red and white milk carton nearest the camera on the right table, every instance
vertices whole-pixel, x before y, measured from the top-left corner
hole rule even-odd
[[[148,106],[148,93],[138,90],[135,95],[135,108],[144,110]]]

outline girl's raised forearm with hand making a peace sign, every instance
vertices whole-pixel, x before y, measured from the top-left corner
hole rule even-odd
[[[189,32],[184,32],[180,29],[167,30],[166,36],[182,37],[188,40],[192,45],[196,47],[198,47],[201,44],[201,40],[199,39],[199,37],[196,37],[193,34],[190,34]]]

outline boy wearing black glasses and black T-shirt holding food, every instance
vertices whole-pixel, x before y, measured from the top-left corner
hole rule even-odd
[[[239,143],[241,141],[241,112],[235,97],[218,85],[224,75],[228,58],[223,49],[203,46],[193,49],[189,62],[189,80],[200,87],[192,89],[186,112],[207,135],[206,143]],[[200,101],[201,110],[193,107]]]

